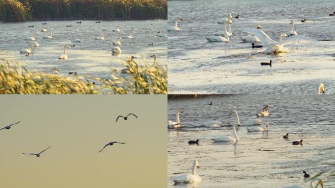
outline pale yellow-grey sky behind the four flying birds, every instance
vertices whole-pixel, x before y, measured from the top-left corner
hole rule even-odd
[[[1,188],[167,186],[166,95],[0,95]],[[139,118],[119,119],[134,113]],[[106,147],[110,141],[127,142]],[[38,153],[37,158],[21,153]]]

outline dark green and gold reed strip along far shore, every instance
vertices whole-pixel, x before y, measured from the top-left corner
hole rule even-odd
[[[4,22],[43,19],[167,19],[167,0],[0,0]]]

